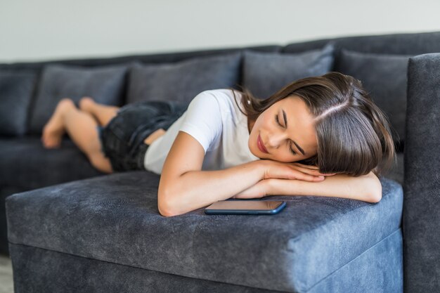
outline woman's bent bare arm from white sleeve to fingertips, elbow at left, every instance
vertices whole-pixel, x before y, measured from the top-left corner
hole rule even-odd
[[[205,151],[198,141],[180,131],[164,162],[157,193],[163,216],[176,216],[226,200],[266,178],[322,181],[318,171],[270,160],[257,160],[218,171],[200,171]],[[313,174],[313,175],[311,175]]]

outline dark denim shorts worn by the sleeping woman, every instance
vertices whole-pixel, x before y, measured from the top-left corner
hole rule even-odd
[[[145,138],[157,129],[169,129],[186,108],[188,104],[168,100],[131,103],[119,108],[106,126],[98,126],[102,150],[113,171],[144,170]]]

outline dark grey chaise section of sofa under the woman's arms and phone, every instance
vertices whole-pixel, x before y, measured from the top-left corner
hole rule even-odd
[[[63,282],[75,285],[75,280],[85,278],[89,285],[96,283],[95,288],[114,281],[103,279],[100,269],[120,272],[117,278],[127,284],[145,282],[141,273],[124,275],[125,267],[149,272],[148,278],[181,278],[183,291],[193,292],[203,292],[202,287],[196,289],[196,280],[233,286],[228,292],[252,292],[236,289],[243,286],[351,292],[354,283],[356,292],[402,292],[403,193],[395,181],[381,179],[383,196],[377,204],[339,197],[271,196],[261,200],[287,202],[280,214],[208,216],[197,209],[164,217],[157,209],[159,178],[148,171],[124,172],[8,197],[13,266],[23,272],[42,269],[41,277],[58,280],[65,259],[70,259],[75,269],[61,273]],[[115,271],[109,272],[111,267]],[[39,273],[32,275],[37,278]],[[44,283],[15,281],[28,287]]]

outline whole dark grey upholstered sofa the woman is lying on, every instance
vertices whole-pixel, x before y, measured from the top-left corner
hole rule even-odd
[[[435,52],[440,32],[0,65],[0,96],[2,72],[23,85],[20,103],[1,104],[21,125],[0,120],[2,249],[8,244],[15,292],[439,292],[440,56],[418,56]],[[242,84],[264,98],[277,82],[322,70],[361,79],[389,114],[399,152],[380,178],[377,204],[273,196],[262,200],[287,201],[276,216],[198,209],[166,218],[157,210],[157,174],[103,175],[67,138],[59,150],[39,143],[44,119],[66,94],[113,105],[189,102],[205,90],[192,81],[205,78],[211,88]],[[5,96],[18,92],[4,84]]]

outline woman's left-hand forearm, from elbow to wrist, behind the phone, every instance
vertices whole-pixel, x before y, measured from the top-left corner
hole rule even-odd
[[[184,214],[227,200],[264,178],[260,161],[248,162],[218,171],[188,171],[167,190],[167,216]]]

